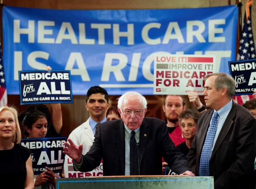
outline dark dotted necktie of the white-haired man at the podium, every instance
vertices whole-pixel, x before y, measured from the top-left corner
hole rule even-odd
[[[139,175],[138,146],[135,131],[131,131],[130,138],[130,175]]]

